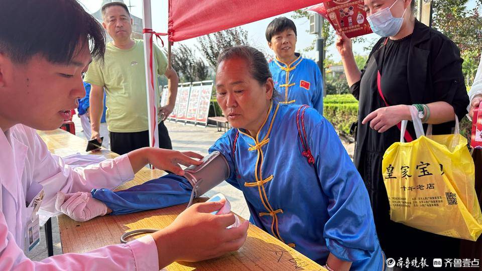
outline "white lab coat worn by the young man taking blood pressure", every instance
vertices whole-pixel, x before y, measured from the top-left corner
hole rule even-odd
[[[56,255],[40,262],[27,258],[22,249],[32,214],[26,202],[36,196],[39,185],[45,193],[41,213],[53,215],[58,191],[115,188],[132,178],[127,155],[72,169],[49,152],[34,129],[18,124],[4,133],[0,128],[0,270],[158,270],[157,247],[150,235],[128,244]]]

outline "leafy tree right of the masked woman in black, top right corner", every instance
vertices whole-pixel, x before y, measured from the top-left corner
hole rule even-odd
[[[471,85],[482,53],[482,0],[476,7],[466,9],[468,0],[432,1],[433,28],[451,39],[464,59],[462,71],[467,85]]]

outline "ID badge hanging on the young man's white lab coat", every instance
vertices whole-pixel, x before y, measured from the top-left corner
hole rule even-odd
[[[32,214],[27,219],[27,227],[25,232],[25,244],[28,252],[30,252],[36,245],[40,243],[40,224],[39,215],[37,213],[43,197],[44,190],[41,190],[27,207],[27,210],[33,209]]]

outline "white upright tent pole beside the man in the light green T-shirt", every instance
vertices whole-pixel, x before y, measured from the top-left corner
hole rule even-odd
[[[144,29],[152,29],[151,20],[151,1],[143,0],[142,2],[143,10],[143,26]],[[158,93],[156,88],[152,86],[151,78],[154,80],[154,86],[157,84],[157,69],[156,61],[151,59],[151,37],[153,34],[144,33],[144,62],[146,68],[146,91],[147,91],[147,114],[149,120],[149,145],[151,147],[159,148],[159,132],[157,128],[158,122]],[[154,45],[153,45],[154,46]],[[154,54],[153,54],[154,58]],[[152,71],[150,69],[150,63],[152,62]],[[153,144],[154,143],[154,144]]]

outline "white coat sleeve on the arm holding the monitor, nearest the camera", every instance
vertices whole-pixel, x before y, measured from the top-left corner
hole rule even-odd
[[[104,246],[86,253],[67,253],[32,261],[15,242],[0,212],[0,270],[159,270],[151,235],[127,244]]]

